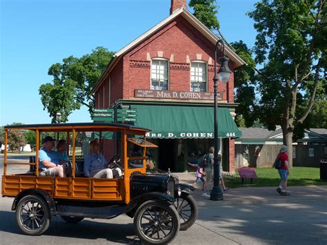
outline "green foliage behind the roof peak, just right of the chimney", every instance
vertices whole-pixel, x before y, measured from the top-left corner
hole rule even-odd
[[[188,6],[193,8],[194,16],[210,30],[219,30],[218,13],[215,0],[190,0]]]

